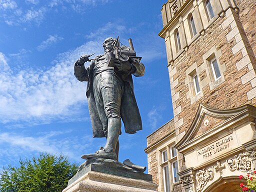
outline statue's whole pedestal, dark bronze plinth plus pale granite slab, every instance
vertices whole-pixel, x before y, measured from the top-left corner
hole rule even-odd
[[[80,165],[62,192],[155,192],[156,188],[149,174],[118,161],[93,159]]]

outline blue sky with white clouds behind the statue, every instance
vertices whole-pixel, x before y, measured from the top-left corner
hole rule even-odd
[[[86,82],[73,75],[81,54],[106,37],[132,38],[146,70],[133,77],[143,130],[122,131],[119,160],[147,165],[146,136],[173,116],[161,5],[166,0],[0,0],[0,168],[39,152],[78,164],[105,138],[92,138]],[[123,128],[123,127],[122,127]]]

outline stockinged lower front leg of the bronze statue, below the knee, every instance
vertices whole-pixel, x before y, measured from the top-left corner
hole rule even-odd
[[[104,149],[108,152],[115,152],[116,145],[121,130],[120,118],[109,118],[107,124],[107,138]]]

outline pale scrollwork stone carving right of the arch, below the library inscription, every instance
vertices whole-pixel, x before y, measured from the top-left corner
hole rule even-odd
[[[226,160],[227,166],[231,171],[240,170],[242,172],[250,173],[254,170],[254,166],[252,163],[252,158],[255,158],[256,154],[252,151],[247,151],[244,153],[239,153],[238,155],[234,155],[234,158],[229,158]]]

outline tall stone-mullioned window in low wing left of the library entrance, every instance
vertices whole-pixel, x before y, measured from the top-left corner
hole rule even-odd
[[[173,146],[166,146],[161,151],[161,169],[164,192],[170,192],[172,184],[179,181],[177,151]]]

